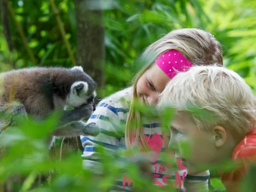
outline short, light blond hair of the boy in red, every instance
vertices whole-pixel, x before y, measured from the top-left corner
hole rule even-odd
[[[178,73],[160,94],[157,108],[167,102],[178,112],[188,112],[199,129],[221,125],[246,135],[256,125],[256,99],[250,86],[225,67],[194,66]]]

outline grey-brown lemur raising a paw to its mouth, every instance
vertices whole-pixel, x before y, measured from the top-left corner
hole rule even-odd
[[[96,125],[81,122],[95,110],[93,99],[96,96],[96,82],[84,73],[82,67],[31,67],[1,73],[1,77],[5,90],[0,97],[0,109],[7,109],[12,86],[15,86],[15,99],[20,102],[11,108],[11,116],[27,118],[30,114],[40,120],[52,111],[61,110],[58,128],[49,137],[50,145],[55,136],[99,134]],[[73,110],[65,111],[65,106]],[[10,119],[9,125],[16,125],[15,118]]]

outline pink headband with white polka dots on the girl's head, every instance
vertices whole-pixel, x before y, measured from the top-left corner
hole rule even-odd
[[[177,71],[186,71],[193,66],[189,60],[175,49],[161,54],[155,62],[171,79],[176,76]]]

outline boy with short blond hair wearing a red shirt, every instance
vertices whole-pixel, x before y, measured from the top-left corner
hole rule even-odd
[[[250,87],[225,67],[195,66],[170,80],[157,107],[167,102],[176,111],[169,144],[183,166],[190,174],[218,166],[227,192],[239,192],[249,164],[256,163],[256,99]],[[231,171],[220,168],[228,160],[238,163]]]

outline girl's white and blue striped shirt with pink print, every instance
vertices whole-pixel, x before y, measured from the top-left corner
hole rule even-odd
[[[95,122],[100,128],[100,134],[96,137],[81,136],[81,142],[84,147],[82,154],[84,168],[90,169],[96,174],[102,173],[99,147],[103,147],[109,153],[116,149],[125,149],[124,128],[130,101],[131,87],[114,93],[103,99],[96,106],[96,111],[87,122]],[[161,160],[161,154],[166,151],[166,145],[168,145],[170,137],[167,133],[162,135],[159,123],[148,124],[144,122],[143,129],[149,147],[154,148],[151,148],[152,151],[158,155],[155,160],[151,160],[153,162],[152,172],[154,173],[155,184],[164,186],[167,185],[167,182],[172,181],[176,184],[177,191],[185,192],[186,189],[183,186],[185,181],[189,183],[204,183],[208,189],[209,171],[202,173],[202,176],[192,176],[187,174],[186,168],[181,165],[179,160],[176,160],[176,166],[167,166]],[[130,181],[128,175],[124,173],[124,176],[116,181],[116,185],[113,185],[110,192],[131,191],[132,183]]]

